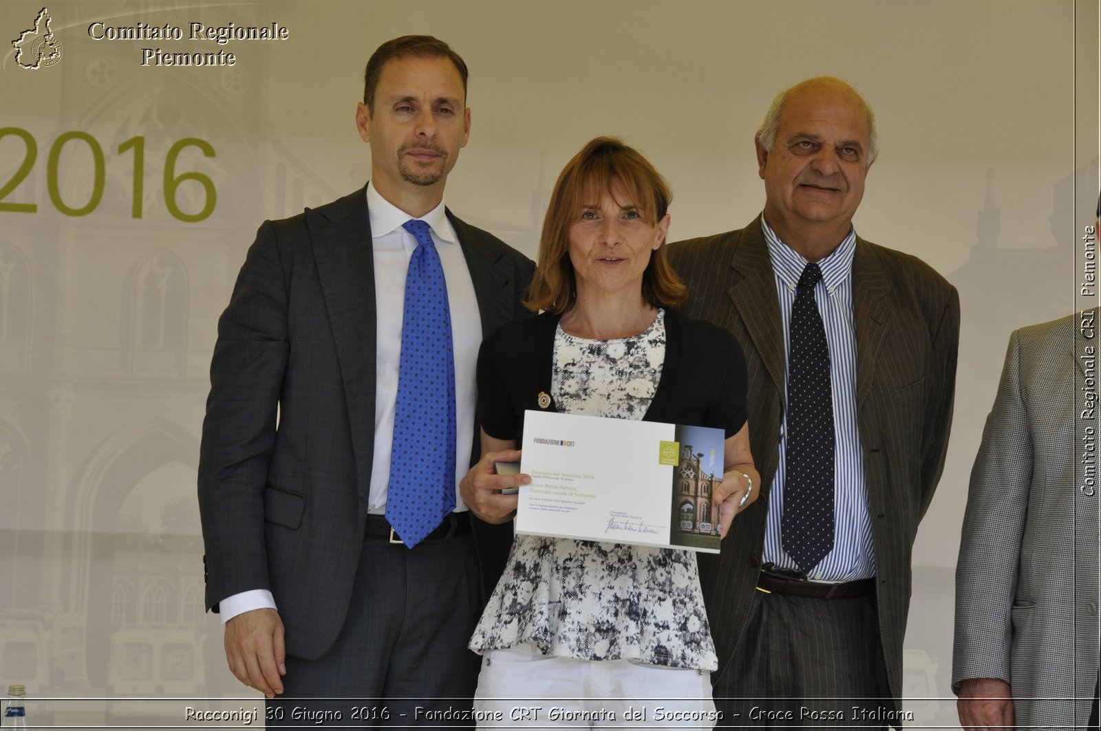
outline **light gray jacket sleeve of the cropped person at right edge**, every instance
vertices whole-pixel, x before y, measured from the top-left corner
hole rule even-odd
[[[957,694],[968,678],[1010,680],[1010,612],[1033,473],[1020,356],[1020,332],[1014,332],[971,470],[956,565],[952,690]]]

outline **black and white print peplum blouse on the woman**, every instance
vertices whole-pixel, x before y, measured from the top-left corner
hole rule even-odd
[[[614,340],[555,332],[552,391],[567,414],[642,419],[665,361],[665,310]],[[477,653],[530,642],[544,655],[713,670],[690,550],[517,535],[470,640]]]

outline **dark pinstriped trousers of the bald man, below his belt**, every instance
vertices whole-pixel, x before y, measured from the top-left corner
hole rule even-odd
[[[715,678],[719,727],[890,724],[874,596],[754,594],[742,642]]]

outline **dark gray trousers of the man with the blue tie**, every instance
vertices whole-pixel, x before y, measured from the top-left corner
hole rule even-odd
[[[480,612],[473,536],[410,550],[363,542],[351,605],[323,657],[286,658],[268,725],[473,725]]]

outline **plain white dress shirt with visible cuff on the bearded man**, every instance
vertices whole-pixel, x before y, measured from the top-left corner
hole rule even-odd
[[[394,410],[397,402],[397,372],[402,357],[402,318],[405,308],[405,275],[416,249],[416,239],[403,228],[413,217],[383,198],[367,184],[367,212],[371,225],[371,250],[374,258],[375,364],[374,364],[374,462],[368,512],[386,512],[390,482],[390,452],[394,436]],[[459,497],[459,480],[467,473],[475,429],[475,368],[481,345],[481,318],[475,285],[459,238],[447,219],[444,201],[421,217],[432,229],[432,240],[439,253],[447,282],[447,304],[451,312],[451,340],[455,358],[455,510],[466,505]],[[275,609],[266,589],[251,589],[219,602],[221,622],[253,609]]]

